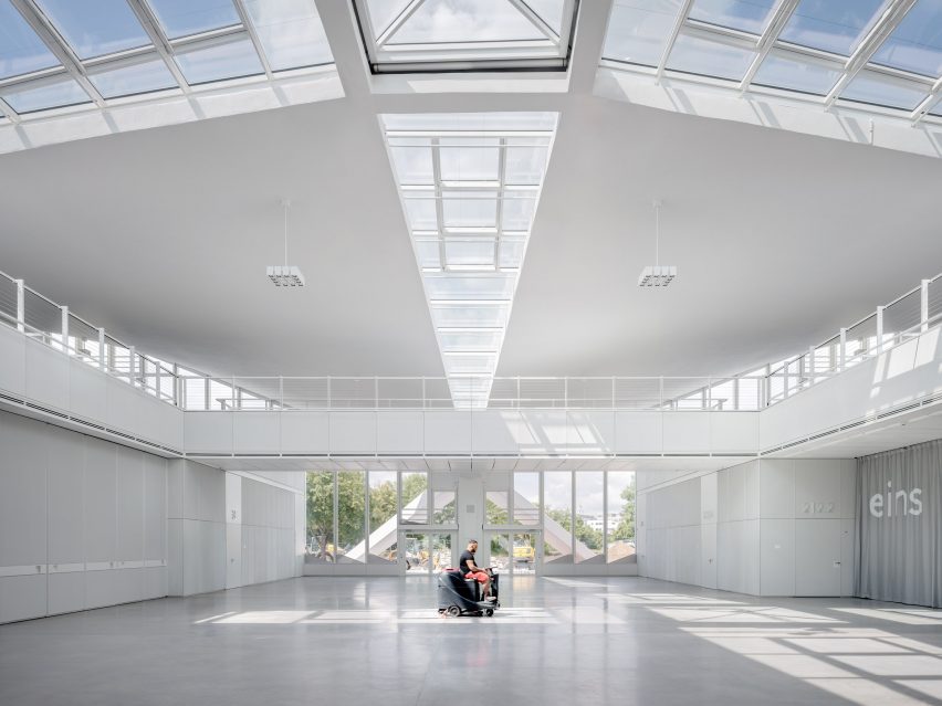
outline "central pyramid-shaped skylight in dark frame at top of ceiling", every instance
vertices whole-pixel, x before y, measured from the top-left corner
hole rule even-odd
[[[576,0],[355,0],[374,73],[565,69]]]

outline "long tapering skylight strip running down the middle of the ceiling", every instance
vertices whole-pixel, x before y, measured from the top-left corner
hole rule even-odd
[[[556,117],[383,116],[457,408],[488,405]]]

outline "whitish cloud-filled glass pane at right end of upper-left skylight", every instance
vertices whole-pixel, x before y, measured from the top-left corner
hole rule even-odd
[[[313,0],[245,0],[272,71],[334,61]]]

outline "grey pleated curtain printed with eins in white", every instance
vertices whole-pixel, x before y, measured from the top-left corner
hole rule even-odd
[[[942,608],[942,440],[857,460],[855,594]]]

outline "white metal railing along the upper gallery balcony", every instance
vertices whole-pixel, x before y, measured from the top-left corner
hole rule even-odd
[[[942,324],[942,274],[806,352],[732,377],[494,378],[490,409],[757,411]],[[448,378],[218,377],[145,356],[0,273],[0,326],[187,411],[453,409]],[[457,378],[451,378],[454,382]],[[472,378],[469,378],[469,382]],[[459,380],[460,381],[460,380]]]

